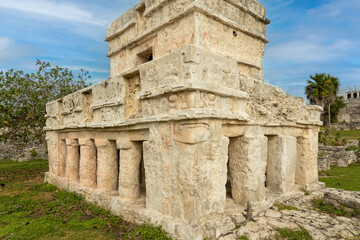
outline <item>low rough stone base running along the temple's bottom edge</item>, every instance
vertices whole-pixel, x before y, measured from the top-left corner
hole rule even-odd
[[[70,183],[65,178],[53,176],[50,173],[45,174],[45,182],[54,184],[60,189],[75,192],[85,197],[86,201],[93,202],[115,215],[123,216],[126,221],[142,224],[145,221],[161,225],[174,239],[184,240],[203,240],[204,238],[218,239],[226,236],[229,232],[238,226],[247,224],[247,208],[235,204],[232,199],[227,199],[226,210],[223,214],[214,216],[211,220],[199,224],[189,225],[171,217],[164,216],[156,211],[146,209],[146,196],[141,195],[135,202],[126,202],[122,200],[117,192],[100,192],[96,189],[81,186],[77,183]],[[313,184],[307,187],[309,191],[317,191],[324,188],[324,185]],[[270,209],[275,202],[285,201],[287,199],[299,198],[304,195],[301,191],[294,191],[286,195],[277,194],[268,195],[265,201],[256,206],[251,206],[252,217],[261,215],[267,209]]]

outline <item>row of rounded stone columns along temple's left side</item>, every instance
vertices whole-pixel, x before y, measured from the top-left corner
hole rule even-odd
[[[64,139],[60,143],[58,176],[70,183],[119,192],[124,200],[140,196],[142,144],[107,139]]]

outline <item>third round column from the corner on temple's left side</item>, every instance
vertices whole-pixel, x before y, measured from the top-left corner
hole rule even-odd
[[[92,140],[79,139],[80,145],[80,184],[85,187],[96,187],[96,148]]]

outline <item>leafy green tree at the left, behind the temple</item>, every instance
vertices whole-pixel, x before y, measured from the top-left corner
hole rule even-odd
[[[75,77],[67,68],[39,60],[36,65],[36,73],[0,72],[1,140],[43,140],[46,103],[86,87],[90,78],[84,70]]]

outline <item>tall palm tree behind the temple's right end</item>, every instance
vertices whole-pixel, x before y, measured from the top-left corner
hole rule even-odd
[[[331,105],[335,102],[339,91],[339,78],[325,73],[310,75],[308,85],[305,87],[306,97],[310,104],[320,105],[326,108],[329,117],[330,142],[331,142]]]

